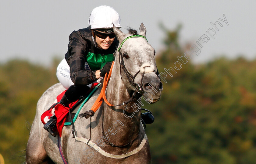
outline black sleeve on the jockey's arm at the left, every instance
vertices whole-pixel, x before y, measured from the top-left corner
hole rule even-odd
[[[79,32],[73,31],[69,36],[68,53],[70,57],[67,62],[70,67],[70,78],[74,84],[91,84],[97,80],[95,71],[84,70],[88,45]]]

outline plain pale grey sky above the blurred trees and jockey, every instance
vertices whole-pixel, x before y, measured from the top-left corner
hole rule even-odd
[[[256,38],[255,1],[87,1],[87,0],[8,0],[0,2],[0,63],[11,59],[25,59],[50,66],[54,57],[64,58],[73,30],[86,28],[91,11],[100,5],[112,6],[121,17],[121,30],[130,26],[139,29],[143,22],[147,28],[148,42],[156,53],[164,50],[165,32],[182,24],[179,42],[185,46],[195,43],[203,35],[209,37],[201,43],[200,54],[194,55],[195,63],[204,63],[216,57],[231,59],[244,56],[255,59]],[[225,20],[227,23],[219,20]],[[211,22],[216,21],[216,30]],[[215,29],[213,38],[209,29]],[[196,44],[199,46],[198,44]]]

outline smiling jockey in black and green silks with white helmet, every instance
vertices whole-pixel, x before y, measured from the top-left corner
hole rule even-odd
[[[90,89],[95,81],[100,81],[109,73],[113,53],[119,41],[115,37],[113,24],[121,28],[119,14],[110,6],[99,6],[92,10],[89,27],[73,31],[69,36],[65,59],[57,68],[57,77],[67,89],[60,100],[65,107],[76,101]],[[56,116],[53,115],[44,129],[56,136]]]

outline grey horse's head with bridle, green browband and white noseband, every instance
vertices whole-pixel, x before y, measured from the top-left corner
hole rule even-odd
[[[120,64],[122,81],[129,91],[141,91],[144,100],[155,103],[160,99],[163,89],[157,76],[155,49],[147,42],[143,23],[140,25],[139,34],[136,30],[129,31],[130,33],[125,34],[114,26],[120,43],[116,62]]]

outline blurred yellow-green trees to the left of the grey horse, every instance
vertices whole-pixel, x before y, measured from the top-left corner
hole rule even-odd
[[[6,163],[18,163],[17,152],[26,149],[29,136],[27,121],[32,123],[43,92],[58,82],[56,70],[12,60],[0,66],[0,76],[0,153]]]

